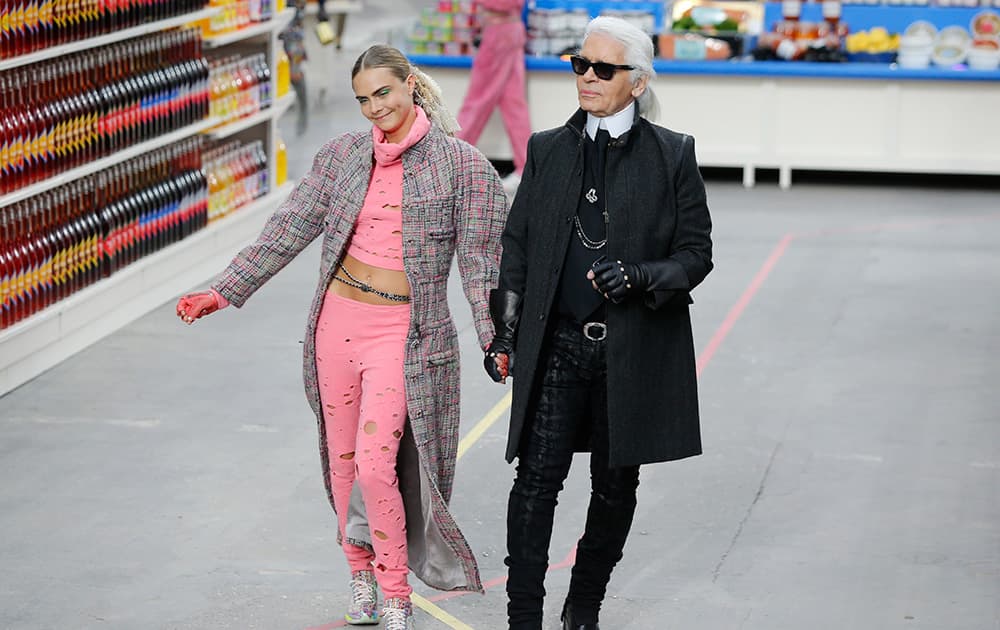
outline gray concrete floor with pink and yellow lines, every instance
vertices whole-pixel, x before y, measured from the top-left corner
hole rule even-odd
[[[365,17],[385,24],[389,6]],[[365,23],[312,72],[346,89],[378,34]],[[349,95],[324,99],[306,136],[283,122],[293,176],[362,124]],[[708,188],[705,455],[643,470],[603,627],[1000,629],[996,188]],[[307,250],[193,327],[164,304],[0,398],[0,628],[339,627],[347,570],[299,376],[316,265]],[[457,284],[450,297],[468,431],[506,390],[481,372]],[[452,506],[494,586],[418,584],[459,620],[421,610],[420,628],[504,627],[504,433],[501,418],[459,462]],[[585,468],[557,514],[547,628]]]

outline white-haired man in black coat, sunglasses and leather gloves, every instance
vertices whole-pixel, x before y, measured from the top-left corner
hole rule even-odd
[[[571,59],[580,108],[531,137],[504,230],[484,365],[498,382],[514,378],[511,630],[542,628],[553,517],[574,452],[591,453],[591,497],[564,630],[599,627],[639,466],[701,453],[688,309],[712,269],[712,224],[694,140],[650,122],[652,58],[642,30],[590,22]]]

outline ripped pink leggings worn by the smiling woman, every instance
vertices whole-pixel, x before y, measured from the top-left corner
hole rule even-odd
[[[396,454],[406,423],[403,354],[410,305],[326,294],[316,325],[316,371],[326,422],[333,505],[351,571],[371,570],[385,597],[408,599],[406,515]],[[375,553],[347,541],[355,479]]]

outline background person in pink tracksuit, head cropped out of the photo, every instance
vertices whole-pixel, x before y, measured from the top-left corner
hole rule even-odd
[[[493,108],[500,107],[514,154],[514,172],[504,181],[516,188],[524,170],[531,121],[525,99],[524,44],[527,33],[521,13],[524,0],[477,0],[482,40],[469,74],[469,89],[458,112],[458,137],[476,144]]]

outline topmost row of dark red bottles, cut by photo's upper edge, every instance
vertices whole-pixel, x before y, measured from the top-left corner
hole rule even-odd
[[[0,59],[204,7],[205,0],[0,0]]]

